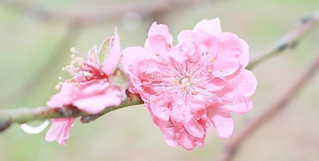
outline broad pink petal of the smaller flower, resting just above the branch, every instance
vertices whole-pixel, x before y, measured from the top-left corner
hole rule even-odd
[[[118,91],[107,91],[105,94],[95,95],[77,99],[73,106],[89,114],[97,114],[110,106],[119,106],[121,104],[122,93]]]

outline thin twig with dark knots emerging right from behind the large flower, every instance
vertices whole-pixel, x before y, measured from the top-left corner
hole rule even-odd
[[[275,45],[258,53],[250,60],[247,69],[253,68],[256,64],[267,60],[268,58],[278,55],[289,47],[294,47],[297,41],[306,35],[310,30],[318,26],[319,24],[319,11],[315,12],[313,16],[305,17],[302,20],[302,24],[293,29],[287,35],[282,37]]]

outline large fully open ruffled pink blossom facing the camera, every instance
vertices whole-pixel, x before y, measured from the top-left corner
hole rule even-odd
[[[169,146],[203,147],[211,124],[220,138],[229,138],[230,112],[253,107],[257,80],[245,69],[248,45],[222,32],[218,18],[180,32],[176,46],[168,27],[154,22],[145,47],[128,47],[123,55],[130,92],[140,94]]]

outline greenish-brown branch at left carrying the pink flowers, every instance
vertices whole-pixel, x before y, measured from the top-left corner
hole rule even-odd
[[[13,110],[1,110],[0,111],[0,132],[4,131],[12,123],[23,124],[34,120],[48,120],[54,118],[65,118],[65,117],[84,117],[82,122],[87,123],[93,121],[92,118],[98,118],[106,113],[114,110],[118,110],[124,107],[134,106],[143,104],[143,101],[135,95],[131,98],[126,99],[121,103],[120,106],[111,106],[106,108],[104,111],[97,115],[84,113],[74,107],[63,107],[60,109],[51,109],[48,107],[39,108],[19,108]]]

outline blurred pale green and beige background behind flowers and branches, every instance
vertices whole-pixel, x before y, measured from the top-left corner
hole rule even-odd
[[[154,7],[143,7],[144,15],[126,7],[125,15],[85,26],[70,25],[63,16],[47,20],[49,15],[41,11],[91,15],[132,4],[157,6],[158,1],[0,0],[0,109],[45,106],[57,92],[58,76],[67,78],[61,68],[70,62],[69,48],[87,52],[112,35],[115,25],[124,49],[143,45],[154,20],[167,24],[176,42],[181,30],[192,29],[203,18],[219,17],[223,30],[245,39],[253,56],[319,9],[319,0],[181,0],[152,15],[147,13]],[[296,48],[254,68],[259,81],[254,108],[246,115],[233,114],[234,135],[280,98],[318,51],[319,30],[314,30]],[[319,75],[244,143],[235,161],[318,161],[318,124]],[[143,106],[117,110],[85,125],[77,121],[65,147],[46,142],[45,132],[28,135],[11,126],[0,134],[0,161],[214,161],[228,142],[210,128],[204,148],[171,148]]]

